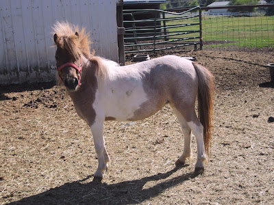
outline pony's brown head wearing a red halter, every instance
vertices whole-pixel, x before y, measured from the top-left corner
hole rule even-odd
[[[61,81],[66,89],[73,91],[77,85],[81,85],[82,59],[77,49],[77,40],[79,34],[76,32],[73,36],[64,37],[54,34],[54,42],[57,46],[55,53],[56,68]]]

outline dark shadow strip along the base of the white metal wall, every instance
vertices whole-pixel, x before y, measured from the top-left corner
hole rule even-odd
[[[25,92],[34,90],[45,90],[56,85],[56,81],[50,81],[47,83],[22,83],[11,85],[0,85],[0,100],[12,100],[7,94],[13,92]]]

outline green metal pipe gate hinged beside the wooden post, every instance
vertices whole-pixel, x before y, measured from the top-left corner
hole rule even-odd
[[[201,8],[123,10],[125,53],[161,51],[182,46],[202,49]]]

